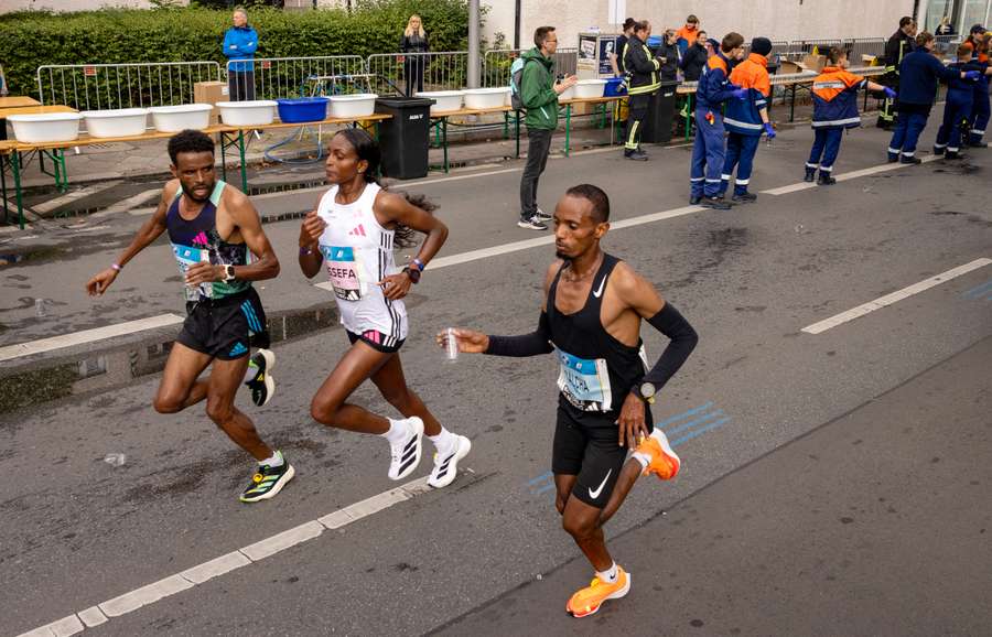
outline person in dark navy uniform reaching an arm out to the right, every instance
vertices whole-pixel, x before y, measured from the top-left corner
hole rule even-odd
[[[934,36],[924,31],[916,36],[916,50],[899,64],[899,116],[896,118],[892,141],[888,142],[889,162],[920,163],[920,159],[916,156],[916,142],[930,117],[938,79],[948,80],[959,76],[978,80],[982,76],[978,71],[958,71],[944,66],[934,55],[935,46]]]

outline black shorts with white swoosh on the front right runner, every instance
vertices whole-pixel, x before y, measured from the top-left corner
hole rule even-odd
[[[618,411],[597,413],[580,411],[563,398],[558,402],[558,424],[551,471],[556,475],[578,476],[572,496],[602,509],[613,493],[613,486],[627,458],[627,445],[617,444]],[[645,410],[651,429],[651,412]]]

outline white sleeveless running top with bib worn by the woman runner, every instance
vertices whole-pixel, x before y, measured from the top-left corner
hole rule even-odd
[[[379,191],[377,184],[366,184],[358,199],[345,205],[334,201],[337,186],[331,186],[317,207],[327,224],[320,248],[342,324],[359,336],[379,332],[382,345],[391,347],[407,337],[407,309],[402,300],[386,299],[376,284],[399,271],[392,256],[396,233],[380,226],[373,210]]]

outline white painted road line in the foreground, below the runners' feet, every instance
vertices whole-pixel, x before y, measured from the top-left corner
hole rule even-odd
[[[120,617],[121,615],[137,611],[142,606],[154,604],[164,597],[188,591],[193,586],[203,584],[208,580],[218,577],[236,569],[240,569],[241,566],[247,566],[254,562],[265,560],[290,547],[295,547],[296,544],[320,537],[320,535],[324,532],[324,529],[339,529],[352,522],[358,521],[362,518],[377,514],[382,509],[387,509],[418,495],[433,490],[428,486],[427,481],[428,476],[410,481],[407,484],[389,489],[388,492],[357,501],[343,509],[337,509],[326,516],[322,516],[315,520],[310,520],[309,522],[282,531],[281,533],[259,540],[258,542],[238,549],[237,551],[231,551],[230,553],[226,553],[191,569],[186,569],[185,571],[170,575],[158,582],[125,593],[123,595],[118,595],[97,606],[91,606],[77,614],[63,617],[52,624],[40,626],[28,633],[22,633],[20,637],[62,637],[82,633],[87,626],[99,626],[114,617]]]

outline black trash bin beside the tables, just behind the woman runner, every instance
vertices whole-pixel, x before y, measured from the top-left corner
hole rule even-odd
[[[380,97],[376,112],[391,115],[379,122],[382,175],[398,180],[427,176],[431,139],[431,105],[422,97]]]

